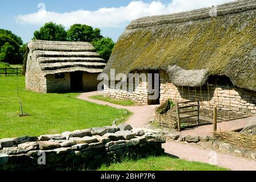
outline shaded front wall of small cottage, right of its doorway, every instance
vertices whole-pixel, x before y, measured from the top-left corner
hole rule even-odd
[[[97,90],[97,86],[99,82],[97,80],[98,78],[98,73],[83,73],[83,90],[86,91],[94,91]]]

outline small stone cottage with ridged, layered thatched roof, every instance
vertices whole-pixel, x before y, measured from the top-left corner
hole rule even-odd
[[[97,90],[106,65],[86,42],[31,40],[28,44],[26,89],[36,92]]]

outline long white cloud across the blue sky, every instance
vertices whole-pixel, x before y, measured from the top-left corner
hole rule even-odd
[[[93,27],[117,27],[122,23],[130,22],[142,16],[177,13],[230,1],[234,0],[173,0],[169,5],[165,5],[160,1],[151,3],[132,1],[127,6],[101,8],[97,11],[77,10],[67,13],[47,11],[41,3],[38,5],[38,8],[41,9],[37,13],[18,15],[15,19],[22,24],[42,25],[52,21],[63,24],[65,27],[69,27],[74,23],[90,24]]]

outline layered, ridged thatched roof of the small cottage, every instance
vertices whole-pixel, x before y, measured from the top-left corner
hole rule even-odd
[[[95,48],[86,42],[31,40],[28,46],[45,76],[75,71],[101,73],[106,65]]]

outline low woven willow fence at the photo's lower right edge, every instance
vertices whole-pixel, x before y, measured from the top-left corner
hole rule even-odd
[[[214,137],[224,142],[251,150],[256,150],[256,135],[235,133],[230,131],[214,131]]]

